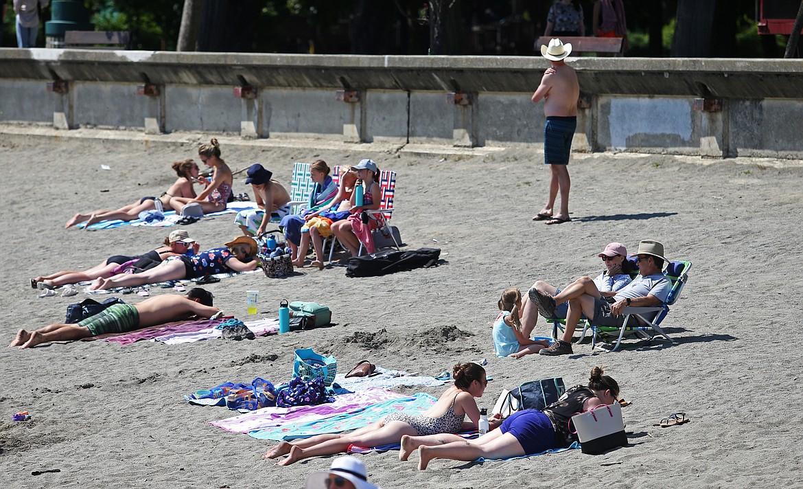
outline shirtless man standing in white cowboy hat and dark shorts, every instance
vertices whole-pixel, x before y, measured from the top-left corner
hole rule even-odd
[[[552,62],[541,78],[541,84],[532,101],[544,99],[544,163],[549,165],[549,198],[533,221],[546,221],[547,224],[563,224],[569,218],[569,152],[572,149],[574,131],[577,129],[577,99],[580,98],[580,84],[577,73],[563,59],[572,52],[571,44],[560,39],[552,39],[549,46],[541,46],[541,55]],[[554,213],[555,198],[560,189],[560,210]]]

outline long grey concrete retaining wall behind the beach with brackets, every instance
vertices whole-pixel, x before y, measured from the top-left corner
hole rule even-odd
[[[569,59],[577,151],[803,157],[803,65],[785,59]],[[0,49],[0,122],[457,146],[543,144],[528,57]],[[47,92],[63,80],[67,91]],[[151,96],[137,85],[151,84]],[[236,98],[234,87],[255,88]],[[338,91],[352,91],[338,100]],[[450,92],[469,104],[455,104]]]

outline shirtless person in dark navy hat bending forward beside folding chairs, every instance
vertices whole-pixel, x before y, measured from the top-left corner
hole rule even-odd
[[[259,236],[265,232],[267,223],[271,222],[271,219],[280,221],[284,216],[290,214],[290,206],[287,203],[290,202],[290,194],[287,194],[287,189],[284,189],[282,184],[272,179],[273,173],[259,163],[251,165],[247,173],[246,183],[251,184],[256,205],[263,210],[241,210],[234,218],[234,223],[240,226],[246,236]],[[271,218],[264,219],[267,210],[270,210]]]

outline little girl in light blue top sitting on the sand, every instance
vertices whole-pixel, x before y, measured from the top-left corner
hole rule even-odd
[[[521,358],[549,346],[546,340],[531,340],[521,332],[521,291],[507,288],[499,299],[499,316],[494,321],[494,349],[497,357]]]

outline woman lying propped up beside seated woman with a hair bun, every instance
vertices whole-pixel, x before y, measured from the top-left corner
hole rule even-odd
[[[176,171],[178,178],[170,185],[167,192],[161,194],[161,197],[143,197],[139,201],[128,206],[120,207],[118,210],[93,210],[88,214],[75,214],[67,221],[65,228],[75,226],[79,222],[87,222],[90,226],[96,222],[111,221],[119,219],[120,221],[134,221],[139,218],[140,213],[144,210],[156,209],[157,199],[161,202],[162,209],[171,210],[170,199],[173,197],[194,198],[195,189],[193,189],[193,182],[198,181],[198,164],[192,160],[176,161],[173,163],[173,169]],[[181,210],[181,209],[178,209]]]

